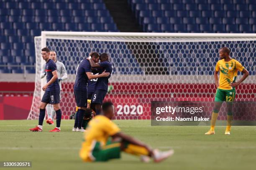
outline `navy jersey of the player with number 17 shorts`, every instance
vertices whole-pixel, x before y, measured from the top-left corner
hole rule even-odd
[[[56,63],[53,60],[48,60],[45,64],[46,80],[49,82],[53,77],[52,72],[57,70]],[[60,90],[58,79],[51,83],[47,88],[47,91]]]

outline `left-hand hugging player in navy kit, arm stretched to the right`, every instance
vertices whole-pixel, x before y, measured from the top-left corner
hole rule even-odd
[[[99,54],[97,52],[90,53],[90,57],[94,62],[99,62]],[[74,95],[77,102],[77,132],[83,132],[84,129],[82,127],[82,120],[84,117],[84,112],[87,107],[87,82],[88,80],[96,79],[99,77],[108,77],[110,75],[109,72],[102,71],[99,75],[92,75],[91,66],[89,60],[86,58],[83,59],[79,65],[77,66],[77,76],[76,81],[74,83]],[[75,120],[76,124],[76,120]],[[75,127],[74,127],[75,128]]]

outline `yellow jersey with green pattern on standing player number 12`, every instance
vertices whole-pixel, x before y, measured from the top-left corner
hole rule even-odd
[[[235,59],[225,62],[224,59],[219,60],[216,64],[215,70],[220,71],[219,89],[230,90],[232,87],[230,83],[235,80],[238,71],[242,71],[244,67]]]

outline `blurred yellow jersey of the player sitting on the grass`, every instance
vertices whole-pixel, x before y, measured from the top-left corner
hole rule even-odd
[[[111,122],[108,117],[103,115],[95,116],[88,124],[84,133],[84,142],[80,150],[80,157],[84,161],[94,160],[92,150],[96,143],[100,143],[101,147],[105,146],[108,138],[120,132],[115,123]]]

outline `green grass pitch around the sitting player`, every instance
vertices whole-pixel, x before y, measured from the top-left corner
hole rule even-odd
[[[72,132],[74,120],[61,121],[61,133],[30,132],[37,120],[0,120],[0,161],[31,161],[32,168],[57,170],[255,170],[256,126],[234,126],[231,135],[225,127],[215,135],[204,135],[208,126],[151,126],[148,120],[114,120],[120,129],[160,150],[174,149],[174,155],[161,163],[141,163],[122,153],[121,159],[105,163],[83,163],[79,149],[83,133]],[[2,168],[0,168],[1,170]],[[6,169],[6,168],[3,168]],[[8,168],[8,170],[17,168]]]

